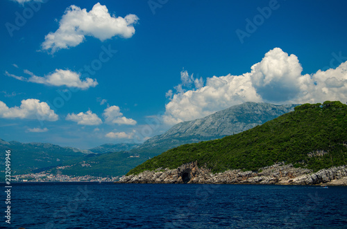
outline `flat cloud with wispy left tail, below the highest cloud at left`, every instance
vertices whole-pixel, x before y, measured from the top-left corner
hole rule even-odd
[[[56,69],[56,71],[49,73],[44,77],[34,75],[34,73],[28,70],[24,70],[24,73],[31,75],[31,77],[26,78],[23,76],[13,75],[8,73],[8,71],[5,72],[5,75],[25,82],[33,82],[49,86],[76,87],[82,90],[89,89],[90,87],[95,87],[96,85],[98,85],[98,82],[96,80],[93,80],[89,77],[81,79],[81,73],[76,73],[70,70]]]

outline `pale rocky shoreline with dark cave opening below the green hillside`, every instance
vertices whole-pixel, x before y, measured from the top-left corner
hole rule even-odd
[[[264,185],[347,185],[347,165],[312,172],[293,165],[279,163],[258,172],[228,170],[213,174],[196,163],[187,163],[169,170],[159,168],[137,175],[122,176],[119,183],[203,183],[203,184],[264,184]]]

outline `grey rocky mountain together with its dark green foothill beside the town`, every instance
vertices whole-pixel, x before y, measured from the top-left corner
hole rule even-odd
[[[296,106],[296,104],[274,105],[262,102],[246,102],[218,111],[205,118],[178,123],[166,133],[146,140],[144,144],[131,149],[129,152],[113,152],[86,158],[85,163],[88,163],[89,167],[82,166],[84,164],[81,162],[74,163],[74,166],[67,167],[60,172],[76,176],[88,173],[95,176],[121,176],[149,158],[167,151],[167,149],[237,134],[272,120],[283,113],[293,111]],[[93,150],[91,149],[91,151]]]

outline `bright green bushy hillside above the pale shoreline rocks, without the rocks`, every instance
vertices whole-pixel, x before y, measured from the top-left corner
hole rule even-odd
[[[341,102],[303,104],[295,111],[234,136],[182,145],[130,170],[174,169],[193,161],[212,172],[258,170],[282,162],[314,171],[346,165],[347,106]]]

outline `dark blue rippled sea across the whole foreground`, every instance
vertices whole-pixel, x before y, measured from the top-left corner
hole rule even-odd
[[[2,206],[0,228],[347,228],[347,187],[12,183]]]

